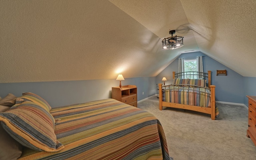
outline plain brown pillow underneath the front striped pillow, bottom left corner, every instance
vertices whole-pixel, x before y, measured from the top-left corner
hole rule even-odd
[[[9,110],[8,106],[0,106],[0,113]],[[0,157],[3,160],[17,160],[22,154],[22,145],[14,140],[0,125]],[[4,146],[4,147],[3,147]]]

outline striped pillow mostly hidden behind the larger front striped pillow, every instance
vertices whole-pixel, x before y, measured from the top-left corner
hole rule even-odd
[[[48,104],[48,102],[46,102],[46,100],[44,100],[42,97],[38,96],[37,94],[26,92],[26,93],[22,93],[22,96],[19,98],[21,99],[18,99],[18,100],[16,99],[16,104],[21,103],[23,101],[31,101],[38,104],[39,106],[42,106],[48,112],[52,109],[52,107]]]

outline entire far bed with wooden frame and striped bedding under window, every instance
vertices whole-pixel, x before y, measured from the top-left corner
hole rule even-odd
[[[199,76],[202,78],[180,78]],[[212,120],[218,117],[219,112],[215,105],[215,86],[211,85],[211,71],[208,71],[208,73],[173,72],[173,79],[173,84],[166,86],[159,84],[160,110],[163,106],[166,106],[210,114]],[[206,84],[207,79],[208,86]]]

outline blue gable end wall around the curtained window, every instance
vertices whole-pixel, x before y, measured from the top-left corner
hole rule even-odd
[[[202,52],[184,53],[178,58],[196,58],[196,56],[204,56],[204,72],[207,72],[208,70],[212,71],[212,85],[216,86],[216,101],[245,104],[243,76],[220,64],[209,56],[206,56]],[[216,76],[216,70],[227,70],[227,76]],[[166,77],[166,84],[172,84],[173,71],[178,72],[178,60],[174,60],[168,67],[158,74],[158,76],[156,76],[156,83],[163,83],[161,80],[163,77]],[[254,79],[255,82],[256,78],[252,79]]]

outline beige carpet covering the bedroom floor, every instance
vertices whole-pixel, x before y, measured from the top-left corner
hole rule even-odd
[[[246,136],[248,109],[218,104],[220,116],[163,107],[152,96],[138,103],[156,116],[165,132],[168,150],[174,160],[256,160],[256,146]]]

